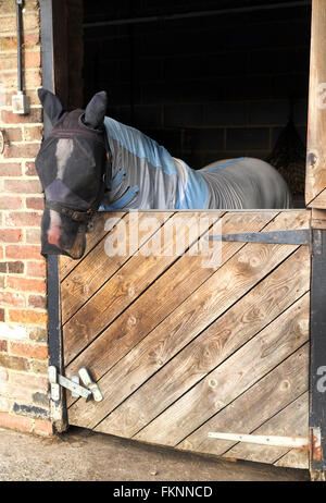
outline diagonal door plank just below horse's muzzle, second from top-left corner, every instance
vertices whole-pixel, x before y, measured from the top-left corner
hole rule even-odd
[[[143,225],[148,214],[129,212],[124,218],[124,225],[120,222],[120,225],[112,229],[112,233],[108,232],[109,236],[114,233],[114,240],[117,243],[124,242],[126,250],[128,250],[127,254],[108,255],[104,250],[105,240],[101,240],[78,267],[64,279],[61,284],[63,324],[150,238],[148,229]],[[155,218],[158,225],[162,225],[170,218],[170,214],[158,212],[151,213],[151,217]],[[113,225],[115,219],[116,217],[111,220],[110,217],[109,220],[108,217],[105,228],[111,228],[110,221]],[[130,243],[130,237],[133,238],[130,228],[135,223],[139,226],[139,233],[138,243],[134,244]],[[153,228],[152,233],[156,230],[156,226]]]

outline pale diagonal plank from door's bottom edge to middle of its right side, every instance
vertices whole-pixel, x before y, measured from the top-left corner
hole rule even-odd
[[[271,326],[145,427],[135,438],[164,445],[176,445],[267,375],[279,361],[297,351],[306,342],[308,333],[309,294],[305,294]],[[127,409],[127,413],[129,410]],[[130,428],[130,416],[127,413],[123,425],[115,424],[117,415],[115,418],[109,416],[105,420],[105,427],[109,426],[106,431],[112,434],[123,431],[125,434],[126,426],[128,432],[135,430],[135,424],[131,424],[133,430]],[[138,414],[141,416],[141,409]],[[137,427],[140,424],[141,421],[138,420]],[[103,427],[100,425],[97,429],[101,431],[101,428]]]

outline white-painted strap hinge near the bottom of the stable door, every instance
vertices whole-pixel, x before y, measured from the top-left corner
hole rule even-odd
[[[256,443],[260,445],[271,445],[276,447],[309,449],[310,438],[308,437],[278,437],[272,434],[242,434],[242,433],[222,433],[210,432],[210,439],[230,440],[234,442]]]

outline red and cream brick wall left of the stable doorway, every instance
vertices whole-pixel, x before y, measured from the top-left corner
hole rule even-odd
[[[0,0],[0,427],[51,434],[46,263],[40,255],[41,186],[35,156],[42,136],[37,0],[25,0],[23,68],[30,113],[11,111],[17,91],[15,2]]]

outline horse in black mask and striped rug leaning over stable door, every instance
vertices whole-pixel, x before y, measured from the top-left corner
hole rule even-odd
[[[67,112],[58,96],[38,96],[52,131],[36,158],[46,206],[42,255],[85,253],[85,228],[96,211],[285,209],[288,186],[267,162],[220,160],[191,169],[140,131],[105,115],[97,93],[85,110]]]

